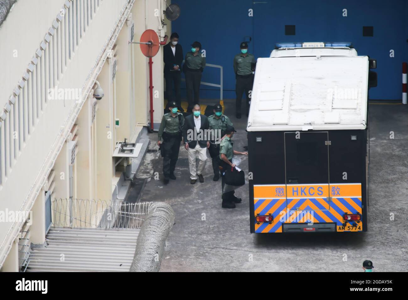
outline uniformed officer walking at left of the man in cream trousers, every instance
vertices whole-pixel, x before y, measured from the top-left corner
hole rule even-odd
[[[182,139],[182,127],[184,126],[184,116],[177,112],[177,103],[169,102],[169,113],[165,113],[160,123],[157,145],[163,147],[163,174],[164,183],[169,182],[169,178],[176,179],[174,169],[180,150]],[[162,142],[163,138],[163,142]]]

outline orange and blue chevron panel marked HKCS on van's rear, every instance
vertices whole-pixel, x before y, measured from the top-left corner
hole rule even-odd
[[[329,192],[331,198],[329,198]],[[315,196],[312,197],[311,193]],[[286,198],[286,195],[290,198]],[[345,213],[362,214],[361,206],[360,183],[330,184],[330,186],[328,184],[288,184],[287,187],[284,184],[254,185],[255,216],[269,214],[273,216],[271,224],[257,224],[255,221],[255,232],[279,233],[282,232],[283,224],[308,222],[335,223],[338,231],[347,231],[342,226],[344,223],[349,223],[350,226],[357,226],[358,223],[361,228],[358,231],[362,231],[361,221],[344,222],[343,220]],[[347,226],[345,228],[347,229]]]

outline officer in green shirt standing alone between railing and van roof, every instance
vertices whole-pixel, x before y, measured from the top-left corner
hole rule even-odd
[[[249,92],[253,85],[253,71],[252,66],[255,63],[255,57],[248,53],[248,44],[242,42],[240,45],[241,53],[234,57],[234,72],[236,78],[235,93],[237,94],[237,102],[235,104],[237,118],[241,118],[241,102],[242,93],[246,94],[246,116],[249,114],[249,105],[251,99]]]

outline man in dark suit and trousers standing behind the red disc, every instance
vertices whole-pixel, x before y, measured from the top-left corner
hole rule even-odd
[[[169,102],[175,101],[179,111],[184,111],[181,107],[181,67],[183,62],[183,48],[178,44],[179,36],[173,32],[170,42],[163,47],[164,78],[166,79],[166,93]],[[175,96],[173,94],[173,82]]]

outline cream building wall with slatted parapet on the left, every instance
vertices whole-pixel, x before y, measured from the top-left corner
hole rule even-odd
[[[60,9],[64,8],[68,11],[65,4],[68,4],[70,9],[77,5],[76,8],[81,14],[80,7],[83,8],[85,4],[93,3],[95,3],[92,8],[93,16],[91,18],[89,14],[87,17],[89,24],[87,22],[83,24],[84,21],[81,22],[79,19],[78,45],[76,45],[75,37],[74,46],[72,47],[71,44],[71,59],[67,59],[66,66],[64,65],[64,51],[58,50],[58,45],[69,47],[69,43],[63,38],[63,33],[59,35],[62,36],[60,41],[57,38],[53,40],[58,35],[58,30],[62,32],[64,18],[59,22],[60,26],[51,38],[51,46],[46,42],[45,51],[40,49],[42,58],[45,53],[50,54],[47,51],[51,49],[59,67],[60,64],[63,65],[60,68],[55,64],[52,65],[55,70],[53,71],[55,80],[51,87],[58,85],[60,89],[83,88],[82,99],[78,101],[75,99],[48,100],[45,97],[45,91],[42,97],[40,93],[38,99],[35,99],[35,96],[28,98],[33,106],[28,111],[34,114],[34,117],[29,120],[30,124],[31,122],[33,124],[29,126],[26,124],[26,138],[16,151],[16,158],[11,155],[13,151],[9,153],[8,156],[12,156],[11,167],[6,169],[4,166],[10,164],[7,157],[2,158],[1,161],[0,211],[5,208],[15,211],[33,210],[35,218],[31,230],[35,231],[33,235],[35,243],[41,243],[45,235],[44,232],[38,232],[41,231],[44,224],[44,213],[41,209],[43,203],[40,203],[44,201],[42,195],[44,189],[53,189],[53,198],[69,198],[69,141],[76,140],[78,147],[73,166],[73,197],[111,199],[112,180],[115,176],[112,153],[115,144],[122,141],[123,138],[135,139],[137,132],[140,131],[137,127],[149,122],[148,59],[141,54],[137,44],[127,44],[129,14],[131,13],[131,19],[135,22],[135,41],[139,40],[141,33],[146,28],[155,30],[163,37],[166,27],[159,22],[161,17],[157,18],[154,13],[155,10],[164,10],[165,4],[162,0],[19,0],[0,28],[0,40],[6,41],[0,45],[0,64],[4,66],[2,69],[11,70],[7,74],[0,72],[2,80],[0,109],[2,110],[2,107],[7,105],[9,97],[13,95],[13,90],[18,88],[17,83],[22,80],[27,65],[40,48],[41,42],[44,42],[44,36],[52,27],[55,16],[60,14]],[[65,17],[67,18],[66,15]],[[27,22],[21,23],[21,19]],[[27,26],[30,22],[35,26]],[[76,23],[71,23],[71,26],[73,26],[71,34],[76,33]],[[109,44],[110,42],[113,43]],[[114,45],[117,47],[115,55],[118,73],[115,80],[111,82],[112,64],[110,61],[113,58],[105,57],[105,62],[102,59],[104,54],[110,50],[108,48]],[[18,59],[7,58],[8,53],[13,53],[13,49],[17,49]],[[153,74],[157,74],[154,76],[153,84],[160,95],[159,99],[154,99],[154,121],[160,122],[163,111],[161,50],[153,58],[153,62]],[[44,64],[44,61],[42,63]],[[38,65],[40,64],[41,62],[38,62]],[[49,69],[50,66],[44,64],[42,71],[45,72],[46,68]],[[29,73],[26,82],[30,80],[35,82],[37,74],[39,72],[34,68],[34,71]],[[30,79],[31,76],[33,79]],[[47,78],[42,78],[42,80],[40,78],[41,83],[35,85],[34,94],[37,90],[40,92],[40,89],[44,90],[49,87],[45,84],[45,79]],[[94,79],[100,82],[105,96],[98,101],[96,118],[92,123],[91,112],[94,100],[88,97],[88,92],[91,92],[91,87],[94,87]],[[24,89],[20,90],[21,95]],[[26,95],[24,99],[27,100],[27,97]],[[18,102],[18,97],[16,99]],[[38,109],[38,117],[35,101],[42,105],[42,109]],[[30,104],[27,104],[27,109],[30,108],[28,105]],[[13,109],[14,105],[11,107]],[[6,117],[12,115],[12,112],[5,111]],[[115,128],[114,125],[115,115],[120,119],[118,128]],[[7,120],[7,118],[0,119],[2,121],[0,131],[3,132],[1,147],[4,145],[3,142],[7,142],[5,139],[7,127],[4,125]],[[70,132],[74,130],[73,128],[76,131],[75,135],[71,136]],[[111,139],[107,138],[109,130],[112,131]],[[5,154],[4,151],[2,154]],[[51,174],[52,178],[50,178]],[[0,222],[0,268],[3,264],[15,265],[9,261],[14,260],[15,256],[9,256],[9,253],[15,247],[14,241],[18,237],[21,226],[22,222]]]

